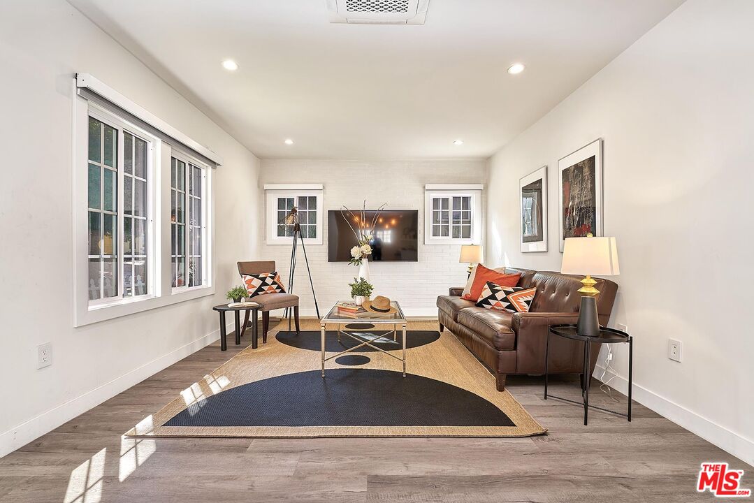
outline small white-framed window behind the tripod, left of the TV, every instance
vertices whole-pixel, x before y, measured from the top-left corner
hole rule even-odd
[[[323,209],[321,185],[265,185],[267,244],[290,244],[295,221],[288,216],[296,208],[300,238],[307,243],[323,243]]]

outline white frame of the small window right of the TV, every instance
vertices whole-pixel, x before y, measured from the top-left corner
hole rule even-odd
[[[479,184],[428,184],[425,186],[425,244],[480,244],[482,241],[482,190]],[[470,238],[452,237],[452,198],[470,198],[471,234]],[[432,235],[433,201],[437,198],[449,199],[449,235]]]

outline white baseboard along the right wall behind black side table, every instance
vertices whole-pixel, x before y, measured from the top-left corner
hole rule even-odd
[[[605,367],[597,365],[594,368],[593,376],[599,380],[599,376],[602,375],[603,371],[605,371]],[[608,378],[613,378],[610,382],[611,388],[615,388],[623,394],[628,394],[628,379],[611,372],[611,370],[605,373],[605,381]],[[713,443],[725,452],[736,456],[741,461],[754,465],[754,441],[744,438],[740,434],[710,421],[710,419],[699,416],[697,413],[665,397],[661,397],[654,393],[654,391],[642,388],[636,382],[633,383],[633,400],[654,410],[654,412],[664,418],[670,419],[676,425],[702,437],[707,442]],[[710,461],[715,460],[710,459]]]

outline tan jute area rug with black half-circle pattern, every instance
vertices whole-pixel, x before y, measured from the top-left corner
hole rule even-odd
[[[452,333],[435,334],[436,321],[409,321],[407,339],[415,335],[421,345],[407,345],[405,378],[400,360],[365,346],[348,353],[355,358],[329,360],[323,379],[314,350],[319,321],[302,320],[300,336],[287,328],[281,322],[271,329],[266,344],[260,336],[258,349],[248,347],[201,377],[127,435],[528,437],[546,431],[508,391],[495,389],[492,374]],[[250,344],[250,336],[244,339]],[[333,351],[357,344],[345,336],[337,342],[335,330],[327,339]],[[381,347],[390,348],[391,340],[382,339]],[[397,340],[391,352],[400,357],[400,331]]]

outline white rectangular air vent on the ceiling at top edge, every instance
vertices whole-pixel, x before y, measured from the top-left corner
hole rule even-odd
[[[330,23],[424,24],[429,0],[327,0]]]

